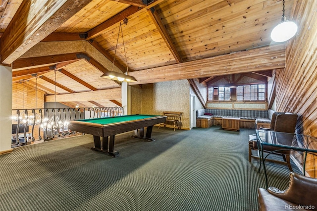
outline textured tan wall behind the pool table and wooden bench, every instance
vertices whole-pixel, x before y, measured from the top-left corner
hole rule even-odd
[[[143,84],[131,88],[131,113],[162,115],[163,111],[180,111],[182,127],[190,128],[190,86],[187,80]],[[140,100],[141,99],[141,100]]]

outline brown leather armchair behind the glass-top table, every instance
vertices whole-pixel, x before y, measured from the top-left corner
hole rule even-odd
[[[288,113],[288,112],[274,112],[272,115],[271,119],[271,124],[270,128],[260,128],[260,129],[265,129],[265,130],[273,130],[276,132],[285,132],[285,133],[295,133],[295,127],[296,127],[296,121],[297,121],[297,114],[295,113]],[[282,139],[280,139],[282,140]],[[283,139],[284,142],[291,142],[292,139]],[[286,144],[286,143],[285,143]],[[276,147],[268,147],[264,146],[264,152],[272,152],[274,150],[278,150],[281,148],[276,148]],[[249,161],[251,162],[251,158],[255,158],[256,156],[252,156],[252,150],[258,150],[258,144],[256,140],[249,140]],[[288,169],[292,171],[292,166],[290,162],[290,151],[285,150],[285,151],[279,151],[278,153],[274,153],[276,155],[283,156],[284,162],[283,161],[278,161],[278,160],[272,160],[272,159],[267,159],[269,161],[273,162],[279,162],[279,163],[286,163],[288,166]],[[259,158],[259,157],[257,157]]]

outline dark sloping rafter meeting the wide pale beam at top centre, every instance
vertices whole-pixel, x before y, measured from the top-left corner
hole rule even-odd
[[[151,7],[148,9],[149,16],[151,17],[154,25],[159,31],[159,34],[163,38],[164,42],[166,43],[167,48],[174,56],[177,63],[183,62],[183,59],[181,58],[180,54],[177,52],[177,49],[175,48],[172,39],[170,38],[165,26],[160,21],[160,17],[158,12],[155,10],[154,7]]]

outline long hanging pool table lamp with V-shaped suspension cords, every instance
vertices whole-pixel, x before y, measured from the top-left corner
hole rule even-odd
[[[127,23],[128,23],[128,19],[127,19],[127,18],[124,18],[124,20],[123,20],[122,23],[120,22],[119,32],[118,32],[118,37],[117,37],[117,43],[116,43],[116,46],[115,46],[115,51],[114,51],[114,56],[113,56],[112,70],[105,72],[105,73],[101,76],[101,77],[103,77],[103,78],[107,78],[107,79],[111,79],[111,80],[117,80],[117,81],[121,81],[121,82],[137,82],[137,79],[135,79],[135,77],[129,75],[127,55],[126,55],[126,53],[125,53],[125,46],[124,46],[123,32],[122,32],[122,26],[121,26],[121,25],[122,25],[122,24],[127,25]],[[115,54],[116,54],[116,52],[117,52],[120,30],[121,30],[123,50],[124,50],[124,56],[125,56],[125,63],[126,63],[126,67],[127,67],[127,72],[126,72],[126,74],[113,71],[114,61],[115,61]]]

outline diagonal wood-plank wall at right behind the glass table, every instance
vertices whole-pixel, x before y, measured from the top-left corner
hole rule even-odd
[[[276,108],[299,115],[297,132],[317,137],[316,1],[296,0],[292,15],[298,33],[287,42],[285,70],[276,70]],[[315,146],[317,149],[317,146]],[[301,162],[302,157],[295,157]],[[316,177],[317,157],[307,160],[306,170]]]

